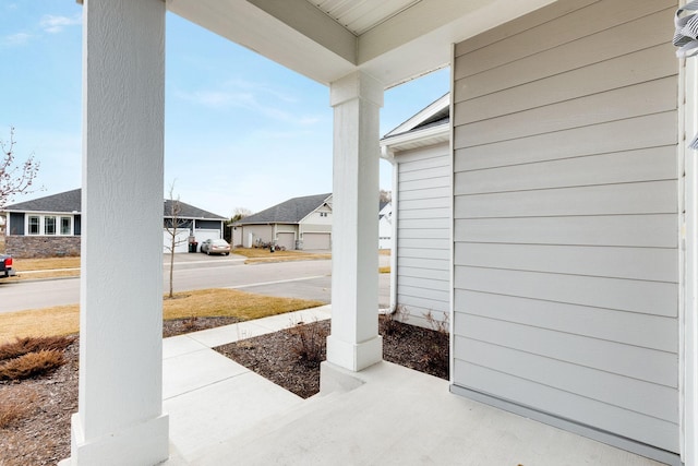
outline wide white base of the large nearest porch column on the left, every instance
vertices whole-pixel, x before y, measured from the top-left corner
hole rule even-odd
[[[60,466],[156,465],[169,456],[169,416],[161,415],[99,439],[85,441],[80,416],[71,418],[71,457]]]

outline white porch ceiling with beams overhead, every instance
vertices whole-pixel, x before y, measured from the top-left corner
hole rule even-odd
[[[167,8],[323,84],[361,69],[390,87],[450,45],[555,0],[167,0]]]

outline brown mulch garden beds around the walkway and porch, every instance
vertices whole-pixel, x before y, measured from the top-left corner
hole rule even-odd
[[[164,335],[234,323],[230,318],[166,321]],[[323,335],[329,322],[308,325]],[[383,357],[387,361],[448,379],[448,335],[382,320]],[[320,385],[320,362],[299,356],[298,332],[281,331],[217,348],[285,389],[308,397]],[[309,345],[306,345],[309,346]],[[312,345],[310,345],[312,346]],[[306,349],[306,348],[305,348]],[[300,351],[302,353],[302,351]],[[70,417],[77,411],[77,340],[65,349],[68,363],[53,373],[22,382],[0,382],[0,466],[55,465],[70,456]],[[3,418],[5,414],[14,414]],[[9,419],[3,422],[3,419]]]

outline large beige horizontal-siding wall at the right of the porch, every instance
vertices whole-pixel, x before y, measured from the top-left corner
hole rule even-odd
[[[559,1],[454,68],[454,392],[655,457],[679,452],[676,7]]]

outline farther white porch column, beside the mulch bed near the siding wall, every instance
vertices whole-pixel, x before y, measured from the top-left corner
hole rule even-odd
[[[330,86],[335,109],[332,335],[327,361],[360,371],[383,358],[378,335],[378,133],[383,85],[363,72]]]

